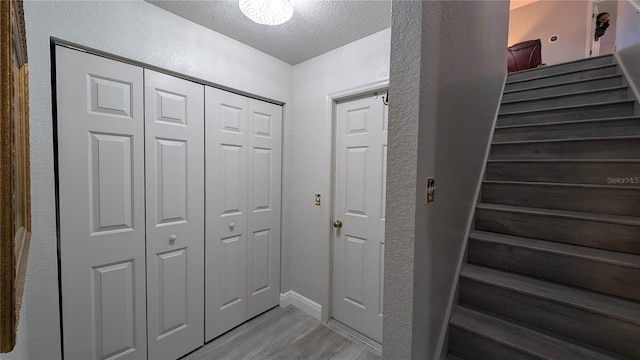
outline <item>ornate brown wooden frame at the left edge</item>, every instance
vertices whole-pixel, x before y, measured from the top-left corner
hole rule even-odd
[[[29,86],[21,0],[0,1],[0,353],[16,343],[29,240]]]

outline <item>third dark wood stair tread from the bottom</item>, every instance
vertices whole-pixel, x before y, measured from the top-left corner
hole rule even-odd
[[[472,231],[469,235],[469,238],[482,242],[491,242],[510,247],[525,248],[538,252],[546,252],[555,255],[579,258],[598,263],[640,269],[640,256],[634,254],[626,254],[610,250],[594,249],[578,245],[538,240],[521,236],[490,233],[478,230]]]

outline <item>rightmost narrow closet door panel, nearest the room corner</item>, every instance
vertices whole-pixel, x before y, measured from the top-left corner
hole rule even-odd
[[[280,301],[282,107],[249,100],[247,317]]]

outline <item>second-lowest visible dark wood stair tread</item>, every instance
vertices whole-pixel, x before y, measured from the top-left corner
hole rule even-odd
[[[639,303],[473,264],[460,277],[640,325]]]

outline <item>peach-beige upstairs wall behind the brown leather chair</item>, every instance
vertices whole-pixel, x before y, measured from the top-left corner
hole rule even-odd
[[[585,56],[588,1],[537,1],[511,10],[509,46],[540,39],[542,62],[547,65],[582,59]],[[590,29],[589,29],[590,31]],[[549,43],[551,35],[559,40]]]

